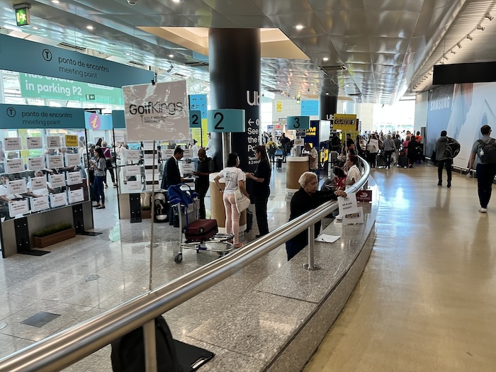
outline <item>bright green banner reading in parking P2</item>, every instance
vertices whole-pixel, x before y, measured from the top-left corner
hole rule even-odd
[[[92,101],[123,105],[123,90],[113,86],[81,83],[80,81],[19,74],[21,96],[24,98],[51,98],[66,101]]]

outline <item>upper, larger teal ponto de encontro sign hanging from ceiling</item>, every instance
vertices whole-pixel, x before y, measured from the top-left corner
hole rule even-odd
[[[0,35],[0,69],[118,88],[154,78],[154,72],[146,69],[8,35]]]

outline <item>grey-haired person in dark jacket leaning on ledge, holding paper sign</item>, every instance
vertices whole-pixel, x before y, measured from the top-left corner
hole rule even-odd
[[[317,191],[319,181],[317,174],[311,171],[305,171],[298,179],[300,189],[295,192],[291,199],[291,215],[289,220],[307,213],[308,211],[317,208],[322,203],[330,200],[336,200],[338,196],[346,197],[346,193],[342,190],[339,191]],[[315,236],[320,232],[320,222],[315,224]],[[288,261],[295,257],[298,252],[308,244],[308,230],[300,232],[300,234],[293,237],[293,239],[286,242],[286,252],[288,253]]]

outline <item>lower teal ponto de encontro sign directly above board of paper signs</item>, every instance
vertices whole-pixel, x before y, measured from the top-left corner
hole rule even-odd
[[[82,108],[0,104],[1,129],[84,128]]]

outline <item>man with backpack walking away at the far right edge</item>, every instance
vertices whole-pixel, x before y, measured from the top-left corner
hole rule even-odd
[[[477,190],[480,201],[480,213],[487,213],[487,204],[491,198],[492,181],[496,176],[496,142],[490,137],[491,127],[483,125],[480,128],[483,137],[475,141],[470,151],[468,169],[473,169],[475,155],[477,155]]]

